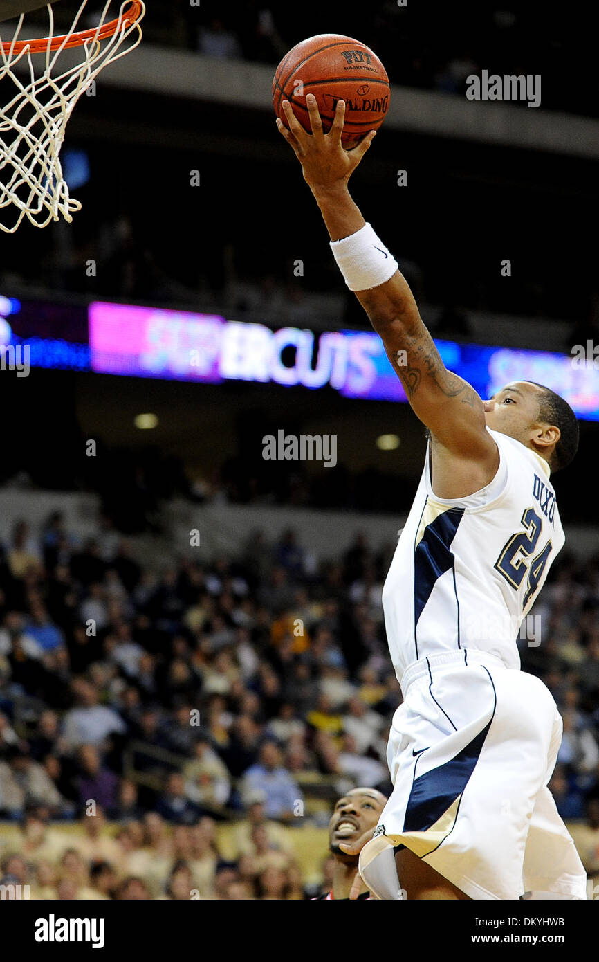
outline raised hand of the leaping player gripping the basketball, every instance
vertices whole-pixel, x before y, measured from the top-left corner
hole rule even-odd
[[[304,179],[312,191],[330,190],[345,185],[362,161],[376,131],[372,130],[362,137],[352,150],[345,150],[341,145],[345,101],[337,101],[337,110],[328,134],[323,133],[316,98],[312,93],[307,95],[306,104],[312,134],[304,130],[288,100],[283,101],[283,110],[289,129],[287,130],[280,117],[277,117],[279,133],[295,151],[295,156],[304,170]]]

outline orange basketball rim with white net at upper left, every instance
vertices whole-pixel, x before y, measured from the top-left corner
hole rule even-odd
[[[87,7],[83,0],[71,29],[62,36],[54,36],[50,3],[50,29],[45,38],[19,39],[23,13],[11,40],[4,40],[0,24],[0,230],[8,234],[14,233],[25,216],[34,226],[46,227],[61,215],[70,223],[72,215],[81,210],[80,202],[69,196],[62,176],[64,130],[75,104],[100,70],[137,47],[139,22],[145,13],[142,0],[121,0],[118,16],[109,20],[111,4],[112,0],[107,0],[96,27],[78,31]],[[69,65],[62,54],[73,48],[82,56]],[[9,83],[10,100],[6,93]],[[12,226],[4,222],[7,209],[7,220],[9,215],[15,216]]]

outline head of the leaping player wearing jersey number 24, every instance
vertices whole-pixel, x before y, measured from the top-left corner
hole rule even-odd
[[[485,401],[487,427],[526,444],[552,471],[578,450],[578,421],[566,401],[535,381],[512,381]]]

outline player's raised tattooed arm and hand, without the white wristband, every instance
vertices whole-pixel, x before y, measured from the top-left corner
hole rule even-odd
[[[320,208],[331,240],[341,241],[365,226],[347,185],[375,133],[367,134],[357,147],[346,151],[341,146],[343,101],[337,103],[331,130],[324,134],[315,98],[309,94],[306,100],[312,135],[301,126],[288,101],[284,101],[283,108],[289,129],[279,119],[277,126],[302,165],[304,179]],[[389,256],[384,249],[374,249],[379,251],[374,256],[382,261]],[[383,340],[387,357],[417,417],[453,455],[487,465],[490,479],[497,468],[498,454],[486,430],[483,401],[466,381],[443,364],[401,272],[396,270],[385,283],[354,292]]]

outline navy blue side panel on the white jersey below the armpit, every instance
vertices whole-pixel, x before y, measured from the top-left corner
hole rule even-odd
[[[425,507],[426,503],[425,501]],[[449,508],[447,511],[443,511],[435,520],[427,524],[420,542],[416,544],[414,549],[413,622],[416,658],[418,657],[418,644],[416,641],[418,619],[433,593],[438,578],[440,578],[441,574],[454,568],[455,558],[449,549],[449,545],[456,537],[456,531],[463,518],[464,511],[465,508]],[[424,514],[424,508],[422,509],[422,514]],[[422,519],[422,515],[420,519]],[[419,526],[418,524],[418,527]],[[458,595],[456,594],[456,601],[457,600]],[[458,613],[459,612],[460,607],[458,606]],[[458,619],[458,632],[460,632],[460,619]]]

